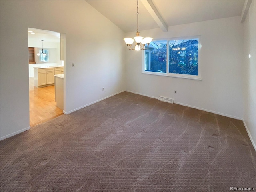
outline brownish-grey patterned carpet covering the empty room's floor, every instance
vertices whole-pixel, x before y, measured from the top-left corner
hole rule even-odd
[[[129,92],[0,144],[1,192],[256,190],[241,120]]]

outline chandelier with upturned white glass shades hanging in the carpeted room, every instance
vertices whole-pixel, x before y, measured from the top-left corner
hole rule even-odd
[[[136,32],[136,37],[134,37],[134,39],[132,38],[124,38],[124,41],[127,45],[127,48],[129,50],[136,50],[136,51],[139,51],[139,50],[145,50],[145,49],[148,49],[148,46],[150,44],[150,42],[152,41],[152,37],[141,37],[140,36],[140,32],[139,32],[139,1],[137,0],[137,32]],[[135,47],[132,49],[132,44],[133,42],[136,42],[135,44]],[[148,45],[146,48],[145,48],[145,45]]]

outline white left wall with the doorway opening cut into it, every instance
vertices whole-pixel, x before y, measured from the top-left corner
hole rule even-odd
[[[124,33],[86,1],[0,3],[1,139],[29,128],[28,27],[66,34],[66,112],[124,89]]]

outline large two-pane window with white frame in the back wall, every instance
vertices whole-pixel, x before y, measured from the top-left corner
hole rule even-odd
[[[142,72],[201,80],[200,47],[200,36],[152,41],[143,53]]]

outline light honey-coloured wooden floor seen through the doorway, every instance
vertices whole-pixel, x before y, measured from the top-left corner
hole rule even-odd
[[[29,114],[30,126],[63,114],[62,110],[56,107],[54,85],[36,88],[34,77],[29,78]]]

